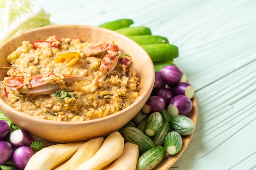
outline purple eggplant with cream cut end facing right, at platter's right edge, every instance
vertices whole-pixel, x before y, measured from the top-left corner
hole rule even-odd
[[[191,99],[194,96],[194,88],[189,83],[181,82],[173,88],[173,93],[175,96],[184,95]]]

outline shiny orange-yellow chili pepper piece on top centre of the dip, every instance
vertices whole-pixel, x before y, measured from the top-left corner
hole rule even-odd
[[[67,63],[67,66],[74,65],[79,60],[78,52],[66,52],[55,59],[56,63]]]

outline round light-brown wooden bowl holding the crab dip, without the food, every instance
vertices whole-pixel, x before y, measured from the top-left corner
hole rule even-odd
[[[0,46],[0,68],[8,67],[6,56],[16,50],[22,41],[33,43],[36,40],[45,40],[52,35],[63,38],[81,37],[82,41],[97,43],[98,41],[115,41],[123,53],[128,53],[133,61],[133,67],[140,79],[139,98],[126,109],[115,114],[82,122],[57,122],[43,120],[29,116],[10,107],[4,97],[0,97],[0,111],[14,124],[31,134],[52,142],[79,142],[96,137],[106,136],[129,122],[146,103],[155,82],[153,63],[146,53],[135,41],[128,37],[94,26],[81,25],[54,25],[44,26],[22,33]],[[6,70],[0,70],[0,80],[6,76]]]

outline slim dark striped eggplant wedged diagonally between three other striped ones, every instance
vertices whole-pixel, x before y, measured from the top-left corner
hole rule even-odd
[[[166,135],[170,132],[171,125],[169,122],[163,122],[162,126],[160,127],[159,131],[153,137],[153,142],[155,146],[160,146],[164,144],[164,139]]]

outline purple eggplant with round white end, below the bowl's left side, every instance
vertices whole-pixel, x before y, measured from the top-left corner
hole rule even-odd
[[[9,138],[11,144],[16,148],[21,146],[29,147],[32,144],[32,135],[25,129],[17,129],[13,131]]]

